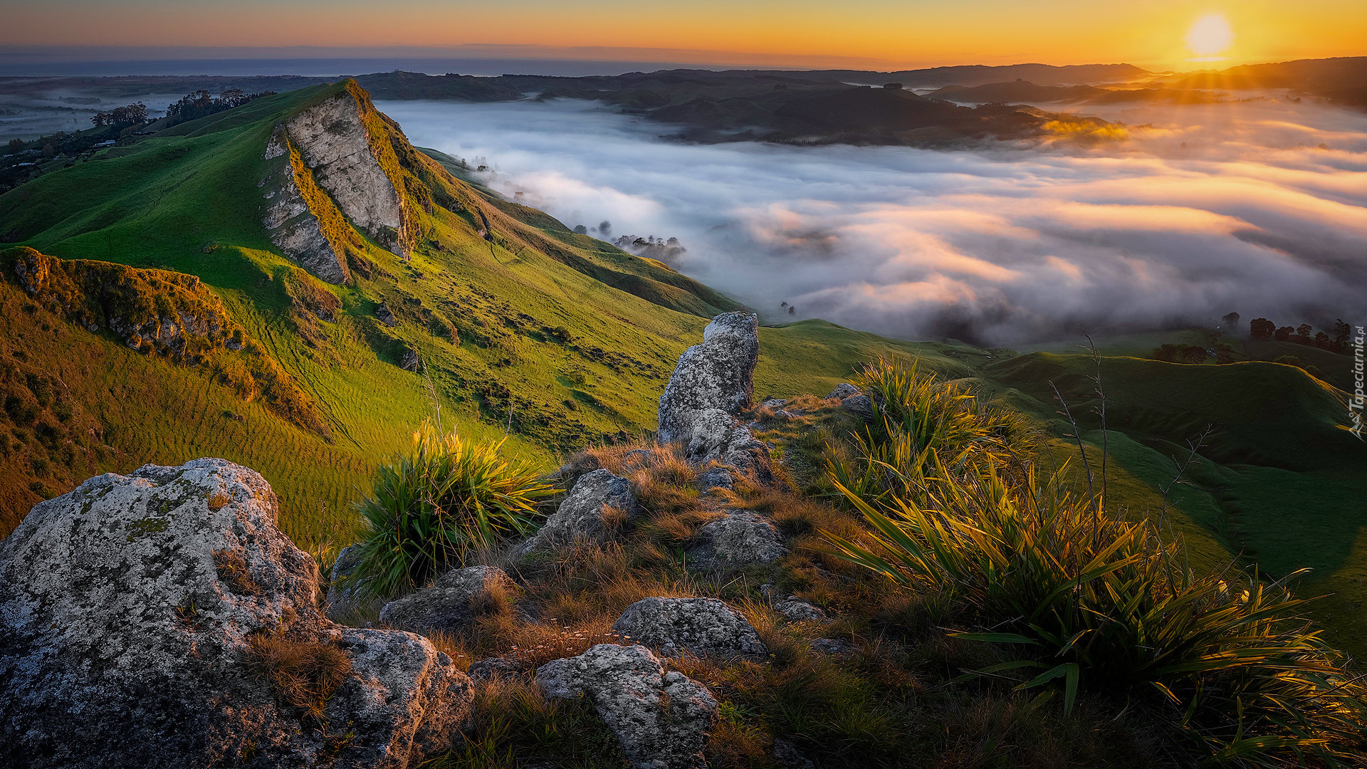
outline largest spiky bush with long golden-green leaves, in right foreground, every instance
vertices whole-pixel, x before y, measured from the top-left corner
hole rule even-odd
[[[1017,465],[1020,468],[1021,465]],[[932,461],[868,495],[839,486],[872,543],[841,557],[946,601],[954,634],[1014,660],[983,670],[1017,688],[1122,696],[1173,724],[1213,764],[1359,766],[1364,687],[1301,618],[1285,582],[1197,576],[1146,523],[1098,516],[1033,469]]]

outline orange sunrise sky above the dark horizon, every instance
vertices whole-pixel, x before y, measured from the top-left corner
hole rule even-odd
[[[1196,37],[1228,47],[1193,51],[1193,25],[1211,16],[1232,37],[1208,21]],[[860,68],[1367,53],[1362,0],[0,0],[0,19],[8,47],[463,47],[454,53]]]

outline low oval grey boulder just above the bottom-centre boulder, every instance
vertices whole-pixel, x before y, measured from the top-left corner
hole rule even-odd
[[[768,647],[740,612],[715,598],[642,598],[626,608],[612,631],[666,657],[763,657]]]

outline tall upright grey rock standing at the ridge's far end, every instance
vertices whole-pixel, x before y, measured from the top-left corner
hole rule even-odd
[[[703,330],[703,343],[679,356],[660,395],[658,435],[686,446],[689,461],[719,461],[772,480],[768,449],[735,415],[750,408],[759,361],[759,316],[718,315]]]

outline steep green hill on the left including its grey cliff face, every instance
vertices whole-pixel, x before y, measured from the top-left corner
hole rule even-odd
[[[343,539],[369,469],[436,404],[447,428],[507,432],[550,464],[653,428],[686,339],[737,307],[458,181],[350,82],[112,148],[0,196],[0,222],[36,249],[0,267],[0,534],[92,472],[213,454],[262,469],[298,540]],[[30,261],[62,296],[25,282]],[[105,285],[142,324],[176,317],[157,302],[180,286],[242,349],[134,352]],[[774,391],[917,349],[824,323],[764,333]],[[275,390],[256,371],[271,365]]]

